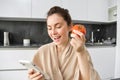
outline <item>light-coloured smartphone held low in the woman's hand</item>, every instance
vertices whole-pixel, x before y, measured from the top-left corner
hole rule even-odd
[[[27,69],[34,69],[36,72],[40,72],[45,80],[50,80],[48,74],[44,73],[39,67],[37,67],[34,63],[27,61],[27,60],[19,60],[19,63],[25,66]]]

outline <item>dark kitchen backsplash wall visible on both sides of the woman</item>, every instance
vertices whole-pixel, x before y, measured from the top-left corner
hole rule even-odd
[[[76,24],[76,23],[75,23]],[[106,24],[88,24],[86,39],[91,42],[91,32],[94,32],[94,42],[116,38],[116,22]],[[51,42],[46,30],[45,21],[0,21],[0,44],[3,45],[3,32],[9,32],[11,45],[23,44],[23,39],[29,38],[31,44],[45,44]]]

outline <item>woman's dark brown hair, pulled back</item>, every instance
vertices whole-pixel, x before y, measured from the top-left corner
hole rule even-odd
[[[61,8],[59,6],[54,6],[54,7],[50,8],[50,10],[48,11],[47,18],[49,16],[51,16],[52,14],[59,14],[67,22],[68,26],[71,25],[72,20],[71,20],[69,11],[67,9]]]

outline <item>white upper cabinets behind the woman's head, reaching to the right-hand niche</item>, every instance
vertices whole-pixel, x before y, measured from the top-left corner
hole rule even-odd
[[[53,6],[68,9],[72,20],[108,21],[107,0],[32,0],[32,18],[46,18],[48,10]]]

